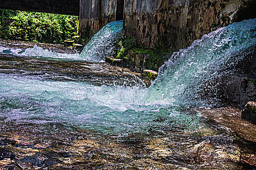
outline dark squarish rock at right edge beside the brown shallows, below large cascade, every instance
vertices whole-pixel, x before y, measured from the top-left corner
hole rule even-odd
[[[256,124],[256,102],[248,102],[245,105],[241,118]]]

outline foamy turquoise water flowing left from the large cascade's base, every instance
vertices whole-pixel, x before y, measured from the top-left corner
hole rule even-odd
[[[195,125],[198,118],[161,102],[145,102],[147,88],[41,81],[0,74],[4,121],[63,122],[110,134],[147,132],[171,124]]]

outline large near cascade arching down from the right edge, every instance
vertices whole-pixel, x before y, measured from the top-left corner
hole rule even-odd
[[[222,27],[192,43],[188,49],[174,52],[160,69],[149,88],[148,101],[166,101],[178,105],[202,105],[197,94],[204,82],[218,76],[217,71],[238,62],[234,54],[256,45],[256,19]],[[206,88],[211,88],[207,86]]]

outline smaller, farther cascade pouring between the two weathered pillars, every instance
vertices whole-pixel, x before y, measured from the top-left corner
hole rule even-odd
[[[81,58],[86,61],[102,61],[105,56],[111,56],[122,28],[122,20],[108,23],[86,44],[80,55]]]

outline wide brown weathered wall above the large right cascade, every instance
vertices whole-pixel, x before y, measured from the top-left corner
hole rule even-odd
[[[124,35],[178,51],[235,21],[256,17],[256,0],[125,0]]]

